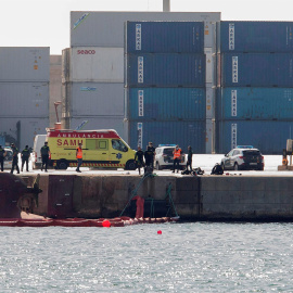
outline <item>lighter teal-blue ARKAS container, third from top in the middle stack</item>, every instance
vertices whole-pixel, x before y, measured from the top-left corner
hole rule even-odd
[[[127,119],[205,119],[204,88],[127,88]]]

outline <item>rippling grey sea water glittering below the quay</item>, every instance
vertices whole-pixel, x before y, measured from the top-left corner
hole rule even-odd
[[[1,227],[0,233],[0,292],[293,292],[292,224]]]

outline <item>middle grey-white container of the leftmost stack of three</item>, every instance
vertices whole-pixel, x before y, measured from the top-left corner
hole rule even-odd
[[[48,117],[49,82],[0,82],[1,117]]]

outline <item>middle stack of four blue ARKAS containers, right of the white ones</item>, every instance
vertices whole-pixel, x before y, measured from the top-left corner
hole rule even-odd
[[[177,143],[204,153],[204,23],[127,22],[125,36],[130,146]]]

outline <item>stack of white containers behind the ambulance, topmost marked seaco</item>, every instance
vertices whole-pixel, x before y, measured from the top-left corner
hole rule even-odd
[[[97,46],[63,50],[65,128],[123,131],[124,49]]]

